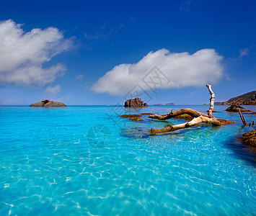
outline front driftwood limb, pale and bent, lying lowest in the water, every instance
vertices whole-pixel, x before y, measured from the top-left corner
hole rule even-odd
[[[205,123],[208,123],[208,124],[211,124],[211,125],[215,125],[215,126],[220,126],[221,125],[221,123],[218,120],[216,120],[215,118],[199,116],[199,117],[195,117],[190,122],[185,122],[185,123],[180,124],[180,125],[173,125],[173,126],[164,127],[164,128],[161,128],[161,129],[154,129],[153,127],[151,127],[151,131],[149,133],[151,135],[154,135],[154,134],[158,134],[158,133],[162,133],[162,132],[171,132],[171,131],[175,131],[175,130],[184,129],[186,127],[192,127],[192,126],[198,125],[202,122],[205,122]]]

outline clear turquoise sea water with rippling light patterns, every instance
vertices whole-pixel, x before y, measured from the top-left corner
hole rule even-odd
[[[253,128],[224,109],[237,124],[151,137],[183,121],[118,117],[161,106],[0,107],[0,215],[255,215],[256,158],[237,140]]]

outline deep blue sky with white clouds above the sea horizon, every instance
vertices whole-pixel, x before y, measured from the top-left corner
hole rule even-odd
[[[0,105],[205,104],[254,91],[256,1],[1,1]]]

